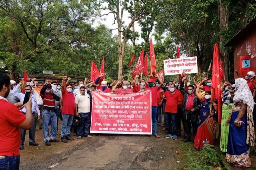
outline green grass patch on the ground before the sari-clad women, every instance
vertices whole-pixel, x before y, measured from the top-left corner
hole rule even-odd
[[[183,163],[179,169],[186,170],[225,170],[223,163],[214,149],[213,145],[205,145],[201,151],[194,149],[192,143],[180,142],[179,146],[182,154]]]

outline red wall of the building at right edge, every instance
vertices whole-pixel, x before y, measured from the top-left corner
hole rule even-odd
[[[239,70],[239,73],[242,75],[242,72],[246,72],[241,68],[240,64],[240,56],[248,56],[251,59],[250,61],[250,71],[256,72],[256,29],[253,32],[248,33],[246,37],[240,39],[240,42],[236,42],[235,44],[235,70]],[[236,74],[235,78],[238,78]]]

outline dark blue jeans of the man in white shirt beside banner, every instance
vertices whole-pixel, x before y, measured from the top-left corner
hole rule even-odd
[[[78,136],[87,136],[90,134],[90,125],[91,125],[91,114],[89,113],[79,113],[82,119],[81,125],[77,128]]]

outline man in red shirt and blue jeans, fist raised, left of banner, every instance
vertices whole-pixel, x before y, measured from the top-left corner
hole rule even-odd
[[[66,83],[67,76],[62,78],[61,94],[62,94],[62,125],[61,125],[61,141],[74,140],[70,137],[70,128],[72,125],[75,111],[75,95],[72,93],[72,85]],[[68,79],[68,82],[71,78]]]

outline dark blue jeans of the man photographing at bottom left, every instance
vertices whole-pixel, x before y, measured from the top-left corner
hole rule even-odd
[[[5,156],[0,159],[0,170],[19,170],[20,155],[17,156]]]

